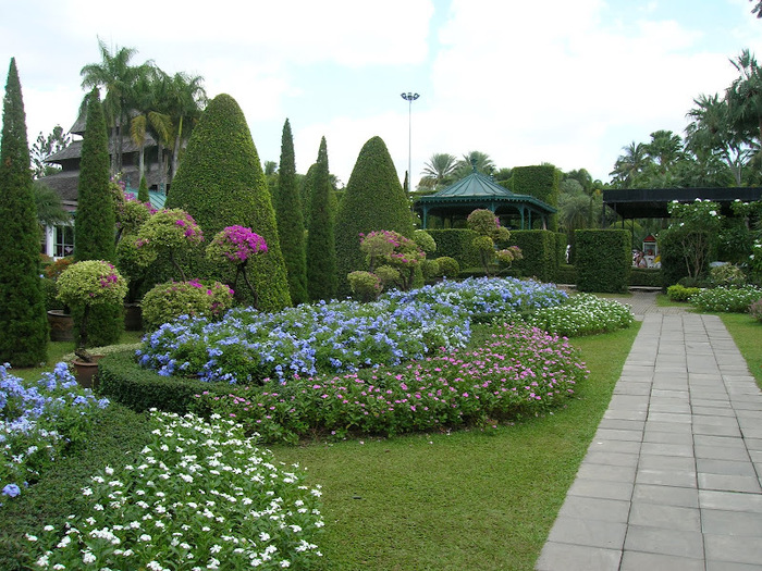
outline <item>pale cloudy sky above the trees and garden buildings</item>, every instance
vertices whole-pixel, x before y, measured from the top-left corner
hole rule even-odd
[[[115,4],[114,4],[115,5]],[[317,160],[346,184],[380,136],[414,185],[434,153],[487,153],[497,167],[552,163],[609,182],[630,142],[683,135],[700,95],[723,94],[762,20],[749,0],[2,0],[0,64],[22,83],[29,145],[67,131],[79,71],[110,50],[204,77],[232,96],[259,158]],[[8,67],[2,69],[7,75]],[[4,85],[4,77],[3,84]],[[408,102],[401,94],[419,94]]]

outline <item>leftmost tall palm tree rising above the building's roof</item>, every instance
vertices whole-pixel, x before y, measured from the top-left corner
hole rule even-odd
[[[81,71],[82,87],[91,90],[94,87],[106,89],[103,98],[103,111],[108,124],[111,126],[112,140],[115,141],[114,152],[111,158],[111,174],[122,170],[122,153],[124,140],[122,126],[127,123],[133,86],[142,73],[138,67],[130,65],[130,60],[137,53],[134,48],[119,48],[112,53],[103,40],[98,39],[101,62],[89,63]],[[144,65],[149,65],[146,63]]]

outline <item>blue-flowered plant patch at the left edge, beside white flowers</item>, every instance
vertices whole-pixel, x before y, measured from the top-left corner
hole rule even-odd
[[[0,489],[15,497],[87,437],[109,401],[82,388],[63,362],[36,383],[9,369],[0,365]]]

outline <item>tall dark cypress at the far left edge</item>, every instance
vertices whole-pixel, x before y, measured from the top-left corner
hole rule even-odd
[[[40,229],[32,191],[26,115],[11,59],[0,144],[0,363],[30,367],[47,359],[48,321],[39,278]]]

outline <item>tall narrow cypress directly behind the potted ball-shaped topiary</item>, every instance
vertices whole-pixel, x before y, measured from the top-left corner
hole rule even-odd
[[[74,214],[74,260],[77,262],[113,262],[116,258],[116,214],[109,188],[110,167],[106,116],[100,103],[100,94],[96,88],[87,99],[85,136],[82,140],[77,206]],[[72,315],[77,330],[84,318],[84,308],[72,308]],[[118,343],[122,331],[124,307],[121,303],[97,305],[90,309],[87,318],[89,346]]]

